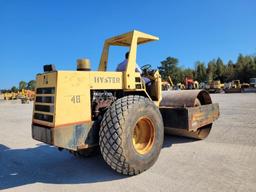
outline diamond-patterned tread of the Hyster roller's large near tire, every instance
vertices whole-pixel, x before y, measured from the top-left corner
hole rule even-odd
[[[122,126],[127,110],[134,103],[150,102],[148,98],[139,95],[130,95],[118,99],[106,111],[99,132],[99,144],[103,159],[115,171],[125,175],[136,175],[144,170],[135,170],[131,167],[123,153]]]

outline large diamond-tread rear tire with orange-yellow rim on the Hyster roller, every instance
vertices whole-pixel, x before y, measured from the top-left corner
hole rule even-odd
[[[135,129],[140,119],[150,122],[149,127],[154,130],[154,138],[148,142],[149,147],[145,147],[145,151],[138,150],[134,144]],[[112,169],[125,175],[136,175],[150,168],[159,156],[163,139],[164,126],[158,107],[138,95],[115,101],[104,114],[99,132],[104,160]]]

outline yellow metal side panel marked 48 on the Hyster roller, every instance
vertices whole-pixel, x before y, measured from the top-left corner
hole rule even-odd
[[[58,72],[55,126],[91,121],[89,73]]]

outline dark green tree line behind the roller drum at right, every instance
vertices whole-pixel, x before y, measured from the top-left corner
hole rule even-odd
[[[226,64],[221,58],[212,59],[207,65],[197,61],[194,69],[183,68],[179,66],[177,58],[167,57],[158,69],[163,80],[167,80],[170,75],[175,84],[183,83],[186,77],[205,83],[213,80],[220,80],[222,83],[240,80],[248,83],[250,78],[256,77],[256,55],[239,54],[235,63],[229,60]]]

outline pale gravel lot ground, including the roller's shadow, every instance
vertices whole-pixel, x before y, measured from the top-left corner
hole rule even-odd
[[[120,175],[100,155],[79,158],[31,138],[32,104],[0,101],[0,190],[256,191],[256,93],[214,94],[209,137],[166,136],[148,171]]]

